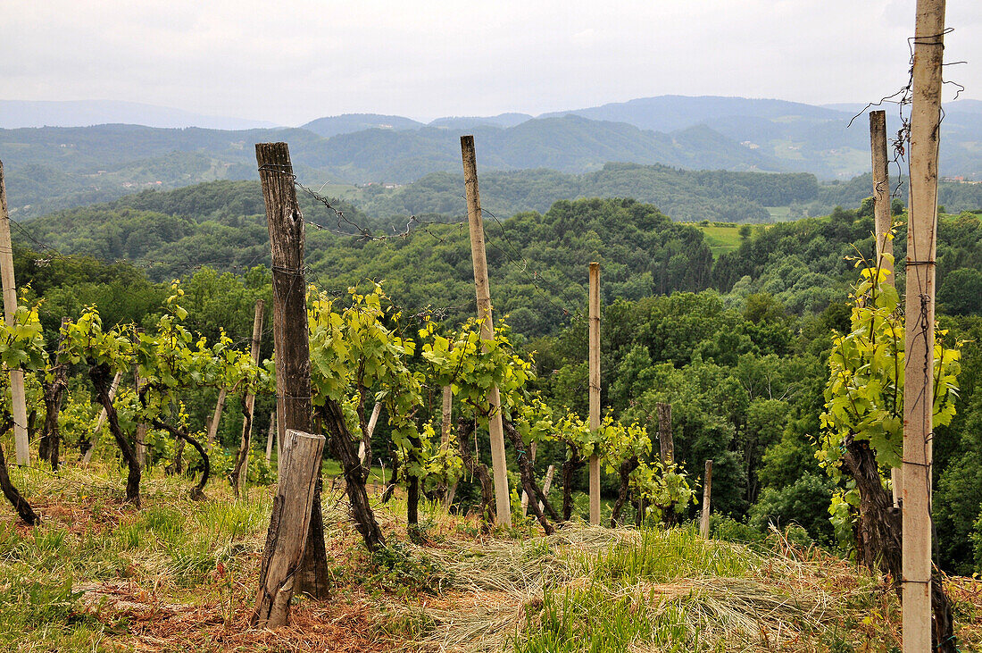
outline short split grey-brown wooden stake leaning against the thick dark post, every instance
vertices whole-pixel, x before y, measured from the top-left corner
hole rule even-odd
[[[284,460],[252,612],[251,624],[258,627],[286,626],[290,619],[290,601],[297,589],[297,574],[307,545],[311,507],[320,478],[324,436],[291,428],[287,429],[283,444]]]

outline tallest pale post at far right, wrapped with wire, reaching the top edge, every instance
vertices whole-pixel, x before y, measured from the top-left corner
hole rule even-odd
[[[903,376],[903,651],[931,650],[935,245],[945,0],[917,0]]]

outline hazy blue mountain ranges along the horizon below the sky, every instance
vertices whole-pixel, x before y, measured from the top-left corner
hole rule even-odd
[[[501,114],[441,118],[428,125],[399,116],[348,114],[312,121],[307,129],[99,125],[0,130],[0,160],[6,166],[12,210],[20,217],[108,201],[142,188],[255,179],[252,143],[264,140],[288,141],[300,180],[318,185],[405,185],[434,172],[457,173],[462,133],[477,137],[482,171],[548,168],[584,174],[610,162],[627,162],[810,172],[819,179],[845,181],[869,167],[866,121],[859,119],[846,129],[853,115],[852,107],[846,108],[662,96],[539,118]],[[982,102],[975,100],[947,105],[943,175],[982,179],[980,112]],[[680,125],[685,126],[670,129]],[[899,129],[896,118],[888,129]]]

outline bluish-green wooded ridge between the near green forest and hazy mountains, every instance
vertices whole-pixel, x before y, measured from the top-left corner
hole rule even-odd
[[[907,195],[906,178],[894,186],[897,201],[905,203],[900,197]],[[433,173],[398,189],[364,189],[355,202],[365,212],[380,217],[428,213],[460,216],[465,213],[463,188],[463,176]],[[836,206],[858,208],[869,196],[873,181],[870,174],[848,182],[819,184],[808,173],[696,171],[608,163],[601,170],[581,175],[553,170],[491,171],[481,175],[481,188],[486,189],[486,208],[497,215],[545,211],[560,199],[633,197],[655,204],[681,222],[763,223],[828,215]],[[943,182],[939,201],[953,213],[980,209],[982,184]],[[772,212],[768,207],[782,210]]]

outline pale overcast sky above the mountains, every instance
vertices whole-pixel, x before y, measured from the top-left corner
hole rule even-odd
[[[0,0],[0,99],[113,99],[300,125],[538,114],[663,94],[866,102],[907,75],[914,0]],[[982,98],[982,2],[947,79]],[[952,96],[946,93],[946,98]]]

